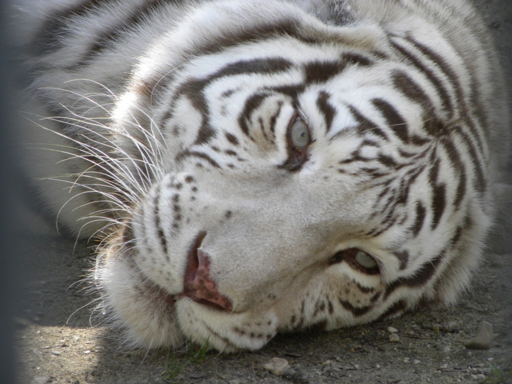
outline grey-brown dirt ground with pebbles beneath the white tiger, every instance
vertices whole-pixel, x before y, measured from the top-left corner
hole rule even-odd
[[[477,4],[512,84],[512,1]],[[29,218],[23,229],[26,303],[16,317],[21,383],[512,383],[512,252],[501,243],[485,255],[472,289],[453,308],[332,332],[280,335],[258,352],[123,351],[100,319],[91,317],[97,296],[80,283],[93,263],[91,245],[59,237],[29,208],[20,209]],[[493,326],[492,347],[466,349],[482,321]],[[389,327],[397,330],[395,342]],[[284,375],[264,368],[273,357],[288,361]]]

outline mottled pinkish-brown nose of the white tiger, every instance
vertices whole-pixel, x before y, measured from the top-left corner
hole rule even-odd
[[[210,258],[202,250],[196,249],[189,254],[183,295],[190,297],[196,303],[211,308],[231,311],[233,305],[229,298],[217,290],[217,284],[210,277]]]

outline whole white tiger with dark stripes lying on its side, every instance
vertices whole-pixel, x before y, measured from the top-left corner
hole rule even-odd
[[[462,0],[20,1],[25,168],[129,346],[232,352],[450,305],[507,116]]]

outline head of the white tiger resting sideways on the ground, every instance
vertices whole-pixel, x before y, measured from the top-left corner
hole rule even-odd
[[[254,350],[454,302],[489,223],[486,144],[446,80],[463,64],[420,32],[223,2],[148,48],[113,112],[131,208],[96,270],[127,338]]]

